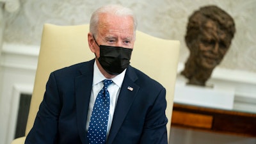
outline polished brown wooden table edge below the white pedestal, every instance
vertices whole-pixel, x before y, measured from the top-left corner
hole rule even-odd
[[[174,103],[172,127],[256,137],[256,113]]]

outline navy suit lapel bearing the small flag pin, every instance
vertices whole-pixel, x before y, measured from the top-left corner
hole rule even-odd
[[[132,102],[136,97],[136,93],[140,89],[140,86],[134,83],[138,77],[134,73],[131,66],[127,68],[124,82],[118,96],[116,103],[115,113],[113,116],[113,122],[109,132],[109,137],[107,143],[112,143],[118,133],[122,123],[124,122],[125,116],[127,115],[129,109],[131,108]],[[129,88],[131,87],[131,88]]]

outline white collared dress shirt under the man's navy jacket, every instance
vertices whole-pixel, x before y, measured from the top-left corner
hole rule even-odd
[[[113,81],[113,83],[111,83],[108,86],[108,92],[109,92],[109,96],[110,96],[110,106],[109,106],[107,138],[108,138],[108,134],[109,134],[110,127],[111,127],[111,124],[112,124],[112,120],[113,120],[116,101],[118,99],[118,95],[120,93],[122,83],[124,81],[125,72],[126,72],[126,69],[124,70],[124,72],[122,72],[121,74],[118,74],[113,79],[111,79]],[[88,131],[88,127],[89,127],[90,118],[91,118],[91,115],[92,115],[92,110],[93,110],[93,105],[94,105],[95,99],[97,98],[98,93],[100,92],[100,90],[104,86],[103,83],[102,83],[102,81],[104,79],[106,79],[106,77],[104,77],[101,74],[99,68],[97,67],[96,61],[95,61],[94,65],[93,65],[92,93],[91,93],[91,98],[90,98],[90,103],[89,103],[89,108],[88,108],[86,131]]]

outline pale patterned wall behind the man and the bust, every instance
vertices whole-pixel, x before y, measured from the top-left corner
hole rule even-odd
[[[3,1],[3,0],[0,0]],[[11,0],[8,0],[11,1]],[[19,1],[19,0],[12,0]],[[220,67],[256,72],[255,0],[22,0],[17,12],[4,9],[4,42],[40,45],[45,22],[60,25],[84,24],[93,10],[104,4],[124,4],[138,17],[138,29],[153,36],[181,42],[180,61],[188,56],[184,43],[188,17],[200,6],[216,4],[236,22],[237,33]],[[0,2],[1,3],[1,2]]]

